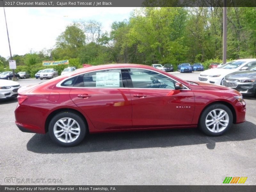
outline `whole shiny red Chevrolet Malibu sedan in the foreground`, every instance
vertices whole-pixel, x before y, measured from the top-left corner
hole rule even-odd
[[[49,132],[66,147],[77,145],[89,132],[199,127],[218,136],[245,121],[239,92],[184,81],[145,65],[81,68],[18,93],[19,129]]]

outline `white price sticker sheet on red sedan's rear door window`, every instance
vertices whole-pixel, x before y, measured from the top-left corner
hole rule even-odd
[[[96,87],[120,87],[118,72],[96,73]]]

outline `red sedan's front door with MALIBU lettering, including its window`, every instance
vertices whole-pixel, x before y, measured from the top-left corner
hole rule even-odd
[[[133,128],[191,125],[195,99],[188,88],[175,90],[175,81],[154,71],[129,69]]]

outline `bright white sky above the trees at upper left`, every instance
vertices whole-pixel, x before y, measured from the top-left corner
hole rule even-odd
[[[103,31],[110,31],[114,21],[129,20],[134,7],[5,7],[12,55],[52,49],[56,38],[75,20],[96,20]],[[0,7],[0,55],[10,56],[4,20]]]

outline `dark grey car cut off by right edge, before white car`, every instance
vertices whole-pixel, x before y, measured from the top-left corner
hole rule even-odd
[[[250,70],[236,71],[226,75],[222,84],[242,94],[256,96],[256,66]]]

